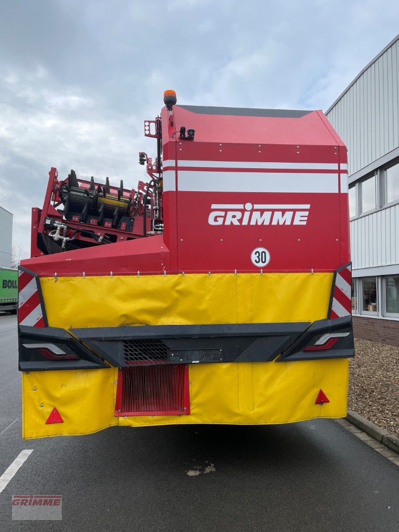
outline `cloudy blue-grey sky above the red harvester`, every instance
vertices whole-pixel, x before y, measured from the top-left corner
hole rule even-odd
[[[0,205],[29,249],[50,167],[134,187],[178,102],[322,109],[399,32],[394,0],[2,0]]]

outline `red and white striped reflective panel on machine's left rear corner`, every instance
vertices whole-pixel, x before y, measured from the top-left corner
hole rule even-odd
[[[39,295],[39,280],[27,273],[18,272],[18,323],[29,327],[45,327]]]

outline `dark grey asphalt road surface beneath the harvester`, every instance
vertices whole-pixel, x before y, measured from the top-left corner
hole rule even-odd
[[[16,318],[1,313],[0,361],[0,476],[33,450],[0,493],[0,530],[399,530],[399,468],[335,421],[23,442]],[[62,495],[62,521],[12,521],[27,494]]]

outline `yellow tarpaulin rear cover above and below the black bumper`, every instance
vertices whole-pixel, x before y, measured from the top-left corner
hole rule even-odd
[[[48,325],[201,325],[326,318],[332,273],[64,277],[40,280]],[[190,364],[190,414],[115,417],[118,369],[23,373],[23,437],[113,425],[286,423],[346,414],[348,361]],[[319,389],[330,403],[315,405]],[[46,425],[54,406],[63,423]]]

